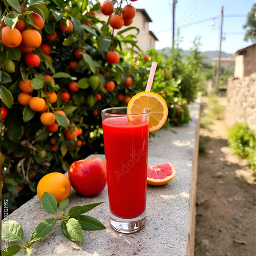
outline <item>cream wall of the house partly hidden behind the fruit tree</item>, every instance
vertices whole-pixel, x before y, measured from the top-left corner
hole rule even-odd
[[[105,22],[108,21],[108,18],[109,18],[109,16],[106,16],[106,15],[102,14],[101,12],[99,12],[97,14],[97,17],[101,18],[101,20],[104,20]],[[123,36],[127,36],[130,34],[136,35],[136,37],[138,39],[137,45],[143,52],[155,47],[156,40],[154,39],[153,36],[150,35],[150,33],[148,31],[148,20],[142,14],[142,12],[140,12],[140,11],[136,12],[136,15],[133,19],[133,23],[130,25],[130,27],[138,28],[140,30],[139,34],[137,34],[136,29],[133,29],[133,30],[124,32],[122,35]],[[123,30],[125,28],[128,28],[128,27],[123,26],[121,29],[115,29],[114,34],[116,35],[118,31]],[[150,46],[150,38],[153,40],[153,42],[152,42],[153,47]]]

